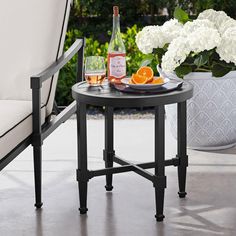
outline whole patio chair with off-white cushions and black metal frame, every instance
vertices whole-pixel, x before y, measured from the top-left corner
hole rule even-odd
[[[76,111],[72,103],[50,118],[58,71],[78,52],[75,82],[83,75],[84,40],[76,40],[62,54],[71,4],[71,0],[0,3],[0,170],[33,145],[37,208],[42,206],[43,140]]]

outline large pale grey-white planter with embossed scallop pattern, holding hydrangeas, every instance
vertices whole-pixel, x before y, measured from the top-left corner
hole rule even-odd
[[[194,86],[193,98],[187,102],[188,147],[217,150],[234,146],[236,71],[221,78],[214,78],[207,72],[193,72],[185,76],[184,80]],[[167,108],[167,116],[172,126],[171,130],[176,136],[176,106]]]

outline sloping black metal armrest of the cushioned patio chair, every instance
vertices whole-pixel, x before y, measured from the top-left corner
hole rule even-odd
[[[42,83],[51,78],[57,71],[59,71],[79,50],[84,47],[84,39],[77,39],[72,46],[53,64],[41,73],[31,76],[30,87],[31,89],[39,89]]]

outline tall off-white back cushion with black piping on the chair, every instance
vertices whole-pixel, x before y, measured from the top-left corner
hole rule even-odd
[[[1,1],[1,100],[31,100],[30,77],[55,62],[63,51],[70,3],[71,0]],[[43,83],[42,102],[48,105],[48,114],[55,84],[50,79]]]

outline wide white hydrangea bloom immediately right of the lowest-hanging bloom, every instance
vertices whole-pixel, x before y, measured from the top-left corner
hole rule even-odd
[[[187,36],[192,52],[199,53],[218,47],[221,37],[218,30],[208,27],[199,27]]]

